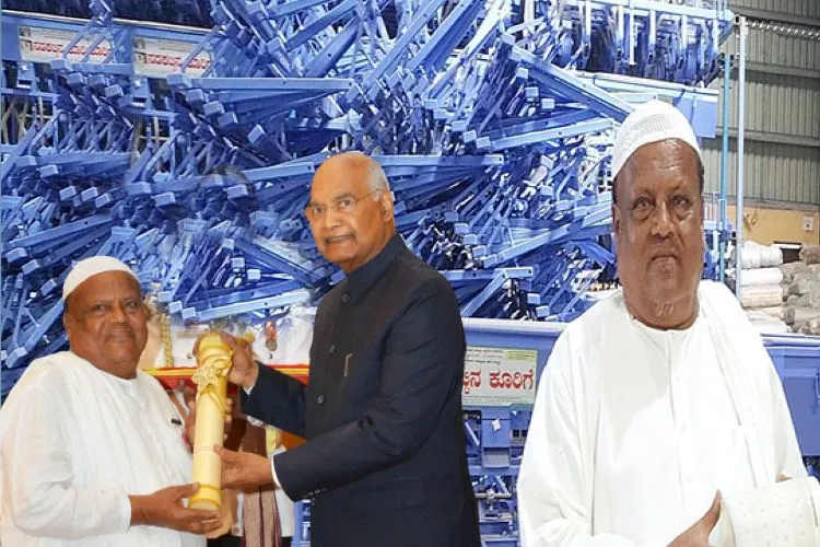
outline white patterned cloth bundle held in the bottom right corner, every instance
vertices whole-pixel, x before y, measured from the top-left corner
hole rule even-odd
[[[820,545],[820,485],[813,477],[777,482],[721,502],[721,547]]]

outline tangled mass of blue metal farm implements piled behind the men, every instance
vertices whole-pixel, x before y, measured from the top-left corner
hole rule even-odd
[[[340,274],[301,211],[350,149],[462,315],[576,316],[612,269],[611,129],[660,96],[713,136],[731,27],[722,0],[74,3],[4,4],[90,19],[3,18],[3,394],[65,345],[84,256],[134,264],[183,321],[315,303]]]

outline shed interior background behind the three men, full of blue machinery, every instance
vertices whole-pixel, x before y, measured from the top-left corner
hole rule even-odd
[[[68,349],[62,286],[98,255],[138,275],[139,366],[166,387],[209,329],[309,382],[345,271],[305,206],[319,165],[361,151],[457,299],[482,545],[523,545],[539,379],[565,325],[620,289],[612,147],[660,100],[702,150],[702,278],[760,333],[820,478],[820,1],[3,0],[0,21],[3,399]],[[304,442],[257,432],[265,455]],[[279,536],[260,545],[311,545],[312,497],[259,499]],[[258,533],[242,507],[210,546]]]

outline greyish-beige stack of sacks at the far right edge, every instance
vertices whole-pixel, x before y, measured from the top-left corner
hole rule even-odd
[[[805,245],[800,261],[784,264],[783,318],[795,333],[820,335],[820,245]]]

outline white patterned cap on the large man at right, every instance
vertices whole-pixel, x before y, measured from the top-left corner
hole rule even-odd
[[[623,164],[644,144],[666,139],[680,139],[701,156],[701,147],[692,126],[683,113],[663,101],[644,103],[623,120],[612,149],[612,178],[618,176]]]

